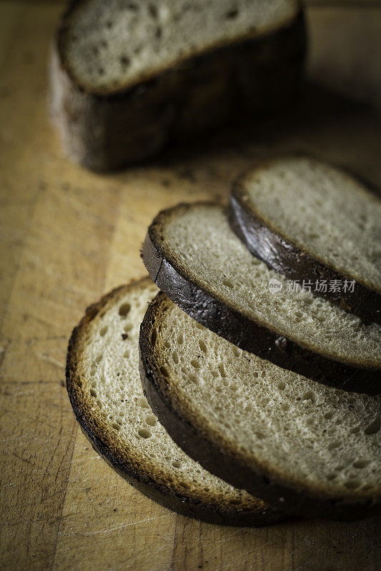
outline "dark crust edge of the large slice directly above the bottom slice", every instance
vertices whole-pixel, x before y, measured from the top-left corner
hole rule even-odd
[[[154,358],[152,330],[158,327],[168,300],[159,293],[149,304],[140,328],[140,375],[144,394],[174,442],[187,455],[197,460],[206,470],[226,482],[243,487],[249,493],[262,497],[270,505],[301,517],[322,517],[333,520],[357,520],[381,512],[381,497],[348,493],[346,497],[333,497],[324,490],[314,490],[306,483],[300,487],[281,473],[274,473],[265,458],[255,464],[245,463],[242,454],[233,448],[215,443],[212,435],[202,426],[202,420],[193,422],[187,417],[182,404],[168,388],[167,380]]]

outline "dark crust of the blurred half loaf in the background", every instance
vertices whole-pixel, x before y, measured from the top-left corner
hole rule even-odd
[[[64,56],[66,31],[82,1],[69,4],[54,39],[51,114],[66,151],[88,168],[106,171],[147,160],[169,142],[235,121],[242,109],[247,116],[277,108],[300,85],[306,44],[301,9],[265,36],[253,31],[123,89],[89,91]]]

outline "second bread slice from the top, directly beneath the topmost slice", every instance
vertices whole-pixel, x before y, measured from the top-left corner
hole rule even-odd
[[[286,278],[229,228],[222,206],[159,213],[142,257],[169,298],[240,348],[327,385],[380,393],[380,325],[364,325],[308,291],[287,291]]]

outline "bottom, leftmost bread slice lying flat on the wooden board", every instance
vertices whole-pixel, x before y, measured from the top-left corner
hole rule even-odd
[[[139,325],[157,292],[149,278],[91,305],[69,343],[66,384],[95,450],[148,497],[222,525],[265,525],[281,513],[191,460],[152,414],[139,379]]]

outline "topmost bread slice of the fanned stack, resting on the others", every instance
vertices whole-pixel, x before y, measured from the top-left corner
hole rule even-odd
[[[360,181],[313,158],[279,158],[234,184],[229,220],[271,268],[381,323],[381,200]]]

